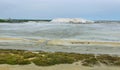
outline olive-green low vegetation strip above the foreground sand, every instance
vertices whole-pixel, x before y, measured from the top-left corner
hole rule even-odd
[[[76,54],[63,52],[31,52],[23,50],[0,50],[0,64],[38,66],[72,64],[81,61],[84,66],[106,65],[120,66],[120,57],[110,55]]]

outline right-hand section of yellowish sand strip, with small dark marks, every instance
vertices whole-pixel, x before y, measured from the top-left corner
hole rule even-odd
[[[110,41],[82,41],[82,40],[50,40],[49,45],[111,45],[120,46],[120,42],[110,42]]]

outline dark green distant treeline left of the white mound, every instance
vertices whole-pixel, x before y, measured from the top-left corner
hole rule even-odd
[[[34,21],[34,22],[49,22],[51,20],[34,20],[34,19],[0,19],[1,23],[22,23],[22,22],[29,22],[29,21]]]

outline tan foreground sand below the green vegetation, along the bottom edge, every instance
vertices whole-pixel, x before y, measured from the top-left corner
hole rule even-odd
[[[94,67],[85,67],[79,63],[74,64],[60,64],[48,67],[36,66],[34,64],[30,65],[0,65],[0,70],[120,70],[120,67],[115,66],[94,66]]]

